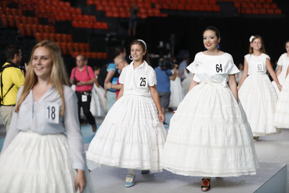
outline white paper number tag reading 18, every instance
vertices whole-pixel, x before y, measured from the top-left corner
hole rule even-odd
[[[45,102],[45,121],[59,123],[59,104],[56,102]]]

